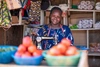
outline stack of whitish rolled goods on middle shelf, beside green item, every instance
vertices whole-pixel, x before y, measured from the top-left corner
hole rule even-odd
[[[93,20],[92,19],[82,19],[79,20],[77,26],[79,29],[87,29],[92,28]]]

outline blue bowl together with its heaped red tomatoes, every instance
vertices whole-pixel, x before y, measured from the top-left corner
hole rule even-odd
[[[42,50],[38,50],[32,39],[26,36],[13,58],[16,64],[19,65],[39,65],[43,59]]]

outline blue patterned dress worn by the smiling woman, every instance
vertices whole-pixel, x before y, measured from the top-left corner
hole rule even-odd
[[[71,40],[71,43],[74,43],[72,33],[68,26],[61,25],[59,29],[52,29],[48,25],[43,25],[38,31],[38,36],[49,36],[54,37],[57,35],[57,43],[59,43],[63,38],[68,38]],[[42,49],[48,50],[55,45],[55,40],[42,40],[41,46]]]

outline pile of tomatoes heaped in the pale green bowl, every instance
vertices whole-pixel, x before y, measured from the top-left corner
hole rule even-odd
[[[47,54],[51,56],[73,56],[78,54],[78,49],[71,46],[69,39],[63,38],[60,43],[50,48]]]

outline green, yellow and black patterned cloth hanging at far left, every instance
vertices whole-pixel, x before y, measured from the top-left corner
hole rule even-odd
[[[10,28],[11,27],[11,14],[7,8],[5,0],[0,0],[0,27]]]

